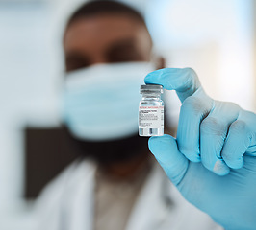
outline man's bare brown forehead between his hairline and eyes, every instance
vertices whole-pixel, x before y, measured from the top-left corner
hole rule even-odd
[[[98,48],[122,39],[136,39],[150,45],[145,26],[127,15],[93,15],[72,22],[64,34],[64,50]],[[148,44],[147,44],[148,43]]]

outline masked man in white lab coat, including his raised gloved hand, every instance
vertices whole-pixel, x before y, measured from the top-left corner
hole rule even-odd
[[[151,48],[143,18],[127,6],[93,1],[71,15],[63,121],[84,156],[42,192],[38,229],[254,229],[255,114],[208,98],[190,69],[149,74],[146,83],[175,89],[184,102],[177,140],[149,141],[177,190],[137,134],[139,85],[164,67]]]

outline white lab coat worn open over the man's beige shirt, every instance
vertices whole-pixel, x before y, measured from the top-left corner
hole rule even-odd
[[[220,230],[187,202],[156,166],[143,185],[126,230]],[[43,191],[37,202],[38,229],[92,230],[95,166],[76,161]]]

